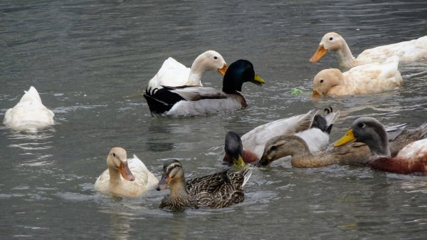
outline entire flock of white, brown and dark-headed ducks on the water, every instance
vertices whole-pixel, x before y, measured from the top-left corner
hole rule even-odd
[[[354,58],[344,38],[327,33],[310,62],[320,61],[325,53],[337,53],[339,66],[315,75],[313,98],[323,95],[356,95],[378,93],[399,88],[403,83],[399,63],[427,61],[427,36],[371,48]],[[223,88],[204,87],[201,78],[206,71],[223,75]],[[242,85],[265,81],[255,74],[253,64],[238,60],[227,66],[216,51],[206,51],[191,68],[168,58],[149,80],[144,93],[154,116],[190,117],[246,108]],[[26,91],[19,103],[6,111],[4,125],[12,130],[37,132],[53,125],[54,114],[48,110],[36,88]],[[291,156],[293,167],[325,167],[332,164],[367,165],[398,174],[427,172],[427,122],[416,129],[406,124],[384,127],[374,118],[362,117],[352,123],[348,132],[327,147],[332,125],[339,111],[332,108],[310,110],[255,127],[243,136],[228,132],[225,137],[223,163],[239,169],[223,170],[186,181],[178,160],[164,162],[161,179],[149,172],[133,155],[114,147],[107,155],[107,169],[97,178],[94,188],[100,192],[137,197],[147,189],[170,187],[160,208],[181,210],[186,207],[228,207],[243,202],[243,186],[251,177],[251,167],[265,167],[282,157]],[[327,147],[326,150],[325,147]],[[323,151],[322,151],[323,150]]]

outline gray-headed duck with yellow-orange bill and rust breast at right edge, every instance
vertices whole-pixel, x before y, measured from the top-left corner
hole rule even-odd
[[[375,169],[400,174],[427,172],[427,139],[411,142],[396,157],[391,157],[384,126],[375,118],[363,117],[354,120],[352,128],[334,142],[334,146],[339,147],[353,140],[368,145],[371,151],[368,165]]]

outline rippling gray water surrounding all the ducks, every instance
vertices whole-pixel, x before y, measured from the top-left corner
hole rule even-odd
[[[53,127],[0,129],[1,239],[426,239],[427,178],[334,165],[253,169],[243,203],[158,209],[169,190],[114,198],[93,190],[111,147],[159,177],[181,160],[186,176],[222,169],[226,132],[332,105],[336,140],[361,115],[385,125],[427,120],[427,64],[401,66],[404,88],[311,100],[312,78],[337,67],[308,59],[337,31],[354,54],[427,33],[418,1],[1,1],[0,118],[33,85]],[[246,83],[248,108],[197,118],[152,118],[142,92],[163,61],[190,66],[213,49],[248,59],[267,81]],[[221,88],[221,75],[204,85]],[[306,90],[290,95],[292,88]]]

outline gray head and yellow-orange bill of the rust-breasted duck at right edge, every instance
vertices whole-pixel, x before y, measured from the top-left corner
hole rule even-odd
[[[371,150],[371,155],[390,156],[389,141],[384,126],[375,118],[362,117],[354,120],[352,128],[334,142],[334,147],[340,147],[349,142],[364,142]]]

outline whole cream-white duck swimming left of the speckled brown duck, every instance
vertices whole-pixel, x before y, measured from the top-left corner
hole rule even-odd
[[[95,182],[97,191],[137,197],[159,182],[137,156],[127,160],[126,150],[122,147],[111,149],[107,166],[108,169]]]

